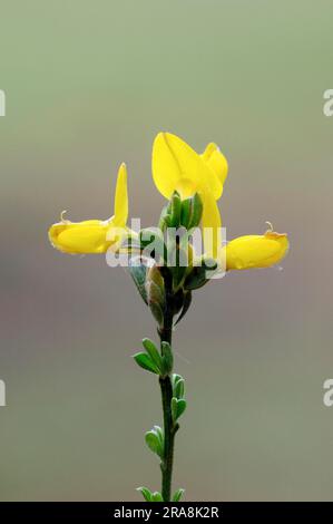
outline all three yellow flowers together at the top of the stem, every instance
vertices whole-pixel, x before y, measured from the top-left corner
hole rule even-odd
[[[169,133],[159,133],[153,147],[153,178],[157,190],[170,198],[175,191],[182,198],[198,194],[203,202],[202,229],[207,256],[224,260],[226,270],[268,268],[285,256],[288,250],[286,234],[273,229],[263,235],[245,235],[222,245],[222,220],[217,201],[228,173],[225,156],[215,144],[208,144],[203,154]],[[49,230],[55,248],[66,253],[106,253],[116,251],[128,234],[127,172],[120,165],[116,185],[114,215],[105,221],[61,221]],[[209,231],[209,234],[205,234]],[[213,231],[213,235],[210,232]]]

